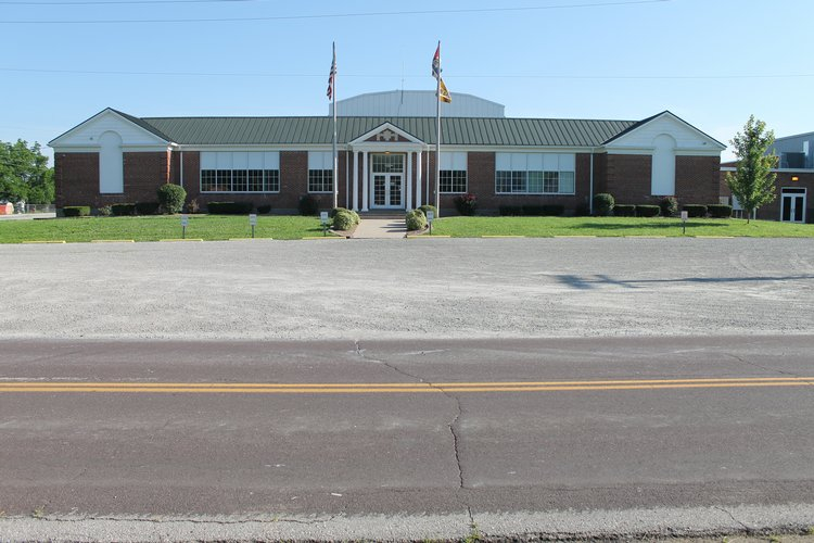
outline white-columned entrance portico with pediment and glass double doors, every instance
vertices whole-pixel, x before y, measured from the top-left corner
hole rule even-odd
[[[390,123],[351,141],[352,209],[368,212],[420,206],[425,149],[423,141]]]

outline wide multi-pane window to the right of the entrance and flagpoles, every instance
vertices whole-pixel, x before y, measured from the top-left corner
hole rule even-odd
[[[495,153],[498,194],[573,194],[574,154]]]

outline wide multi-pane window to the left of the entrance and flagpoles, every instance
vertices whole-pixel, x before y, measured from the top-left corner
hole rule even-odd
[[[204,151],[201,192],[279,192],[280,153]]]

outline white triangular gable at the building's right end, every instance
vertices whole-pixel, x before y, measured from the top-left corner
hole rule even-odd
[[[670,136],[675,141],[675,154],[679,155],[718,155],[725,149],[725,146],[670,112],[606,143],[605,149],[609,153],[651,154],[661,136]]]

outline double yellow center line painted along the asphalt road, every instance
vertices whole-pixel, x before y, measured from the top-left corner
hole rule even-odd
[[[716,389],[812,387],[814,377],[740,377],[705,379],[637,379],[614,381],[496,381],[496,382],[367,382],[367,383],[226,383],[226,382],[54,382],[1,381],[7,392],[73,392],[142,394],[384,394],[470,392],[574,392],[601,390]]]

